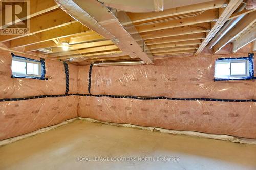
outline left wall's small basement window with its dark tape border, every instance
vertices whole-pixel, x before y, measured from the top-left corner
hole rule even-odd
[[[12,54],[12,78],[44,79],[44,60],[33,60]]]

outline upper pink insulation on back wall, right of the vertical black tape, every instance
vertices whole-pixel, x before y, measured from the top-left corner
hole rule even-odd
[[[247,57],[248,54],[234,57],[240,56]],[[173,98],[255,99],[256,82],[213,81],[215,61],[220,57],[223,56],[155,60],[154,65],[93,67],[91,93]]]

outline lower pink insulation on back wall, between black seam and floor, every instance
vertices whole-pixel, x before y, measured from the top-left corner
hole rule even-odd
[[[256,139],[255,102],[78,97],[80,117]]]

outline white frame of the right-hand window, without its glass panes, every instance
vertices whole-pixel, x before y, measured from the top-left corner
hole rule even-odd
[[[218,63],[229,63],[229,75],[223,75],[223,76],[218,76],[216,77],[215,73],[216,73],[216,67],[215,67],[215,72],[214,72],[214,77],[216,79],[221,79],[221,78],[243,78],[243,77],[248,77],[249,76],[249,60],[216,60],[215,65],[217,65]],[[232,63],[245,63],[245,74],[242,75],[232,75],[231,74],[231,64]]]

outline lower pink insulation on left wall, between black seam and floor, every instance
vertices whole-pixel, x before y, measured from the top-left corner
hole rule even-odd
[[[77,117],[77,96],[0,102],[0,140]]]

